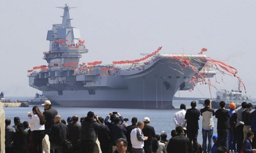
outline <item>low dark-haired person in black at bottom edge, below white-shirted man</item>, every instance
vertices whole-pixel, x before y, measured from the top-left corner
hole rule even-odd
[[[168,153],[188,153],[189,139],[184,136],[184,131],[182,126],[177,126],[175,128],[176,136],[170,139],[166,151]]]

